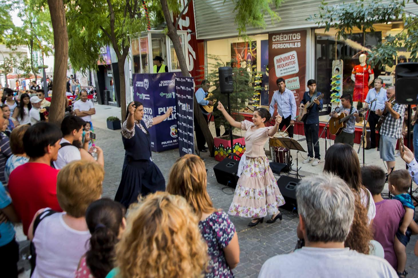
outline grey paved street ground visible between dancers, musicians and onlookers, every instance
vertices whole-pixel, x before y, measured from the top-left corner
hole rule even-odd
[[[95,105],[96,115],[93,116],[92,121],[95,126],[95,132],[97,134],[97,145],[104,150],[105,161],[105,177],[103,182],[103,197],[113,198],[115,196],[117,187],[120,182],[122,174],[122,165],[124,158],[124,149],[121,140],[120,130],[114,131],[106,128],[106,118],[110,115],[117,115],[120,118],[120,108],[114,108],[111,106]],[[106,109],[110,108],[110,109]],[[210,128],[214,134],[214,125],[211,123]],[[221,131],[222,132],[222,131]],[[238,134],[244,135],[244,132]],[[295,139],[303,139],[303,136],[295,135]],[[331,141],[332,143],[332,141]],[[301,145],[306,148],[306,141],[301,141]],[[328,143],[328,147],[329,147]],[[320,140],[321,148],[321,160],[324,161],[325,154],[325,140]],[[354,145],[357,150],[358,145]],[[379,158],[379,154],[376,150],[366,150],[366,164],[379,165],[384,168],[382,160]],[[292,153],[293,163],[296,166],[296,153]],[[161,169],[166,180],[168,179],[168,173],[173,165],[174,161],[178,158],[178,149],[168,150],[162,153],[153,153],[153,160]],[[324,168],[324,163],[318,166],[311,166],[310,164],[303,164],[302,161],[306,158],[306,153],[298,154],[299,166],[301,167],[301,175],[314,175],[321,173]],[[218,162],[214,158],[210,158],[208,153],[201,153],[201,158],[206,163],[208,169],[208,192],[212,198],[214,206],[221,208],[225,211],[228,210],[232,201],[233,190],[217,183],[214,175],[213,167]],[[362,152],[359,154],[360,163],[362,163]],[[400,158],[397,158],[397,168],[403,168],[404,163]],[[281,210],[283,215],[282,221],[277,221],[273,224],[262,223],[255,227],[247,227],[249,219],[231,217],[232,222],[237,230],[239,242],[240,242],[240,263],[233,270],[237,278],[244,277],[257,277],[261,266],[268,258],[291,252],[296,245],[296,225],[298,223],[297,215],[285,210]],[[20,228],[21,229],[21,228]],[[18,236],[19,240],[23,240],[24,237]],[[413,247],[417,241],[418,236],[411,237],[411,241],[408,244],[408,278],[418,277],[418,257],[413,254]],[[295,266],[296,267],[296,266]],[[29,277],[26,272],[25,275],[20,277]]]

